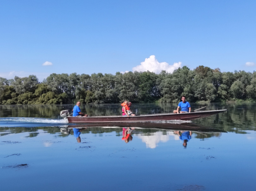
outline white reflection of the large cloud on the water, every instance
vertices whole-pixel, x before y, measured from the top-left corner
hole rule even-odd
[[[146,143],[147,148],[154,149],[159,142],[167,142],[170,137],[173,137],[175,140],[179,140],[179,136],[174,134],[173,131],[167,132],[167,134],[163,135],[162,132],[155,132],[153,135],[138,135],[138,138],[141,138],[142,142]]]

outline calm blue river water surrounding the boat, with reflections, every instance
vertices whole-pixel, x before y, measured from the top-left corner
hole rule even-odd
[[[191,104],[227,112],[125,127],[70,125],[60,111],[73,106],[0,105],[1,190],[255,190],[256,104]],[[176,108],[131,106],[137,115]],[[121,115],[119,104],[81,110]]]

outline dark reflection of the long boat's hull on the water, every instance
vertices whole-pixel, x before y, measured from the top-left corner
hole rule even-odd
[[[84,127],[141,127],[141,128],[157,128],[169,130],[183,131],[202,131],[202,132],[225,132],[220,129],[215,129],[194,123],[153,123],[153,122],[134,122],[134,123],[91,123],[69,125],[67,128],[84,128]]]

